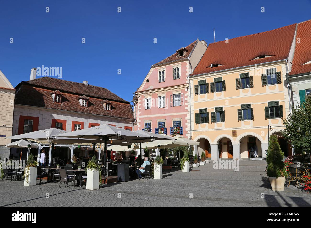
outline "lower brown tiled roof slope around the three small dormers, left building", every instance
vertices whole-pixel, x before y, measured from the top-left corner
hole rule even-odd
[[[16,87],[15,104],[134,119],[133,110],[129,103],[112,101],[112,108],[107,111],[101,104],[102,99],[90,97],[88,107],[82,107],[78,101],[79,95],[63,92],[62,103],[57,103],[53,102],[51,92],[50,89],[21,84],[19,88]]]

